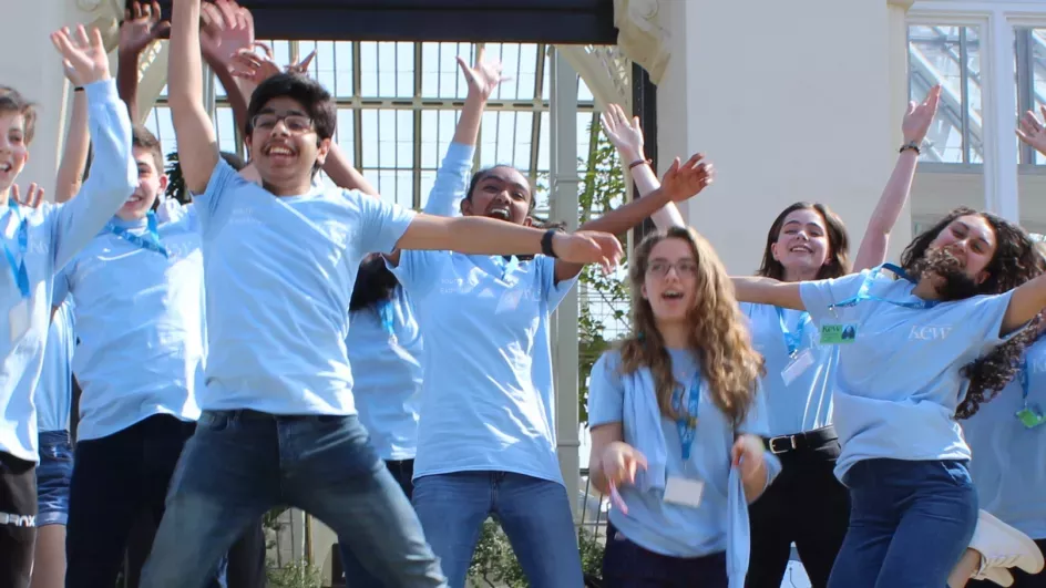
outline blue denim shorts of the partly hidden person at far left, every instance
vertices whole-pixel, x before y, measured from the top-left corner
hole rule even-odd
[[[65,525],[69,520],[69,483],[73,476],[73,447],[68,431],[41,431],[37,464],[37,527]]]

